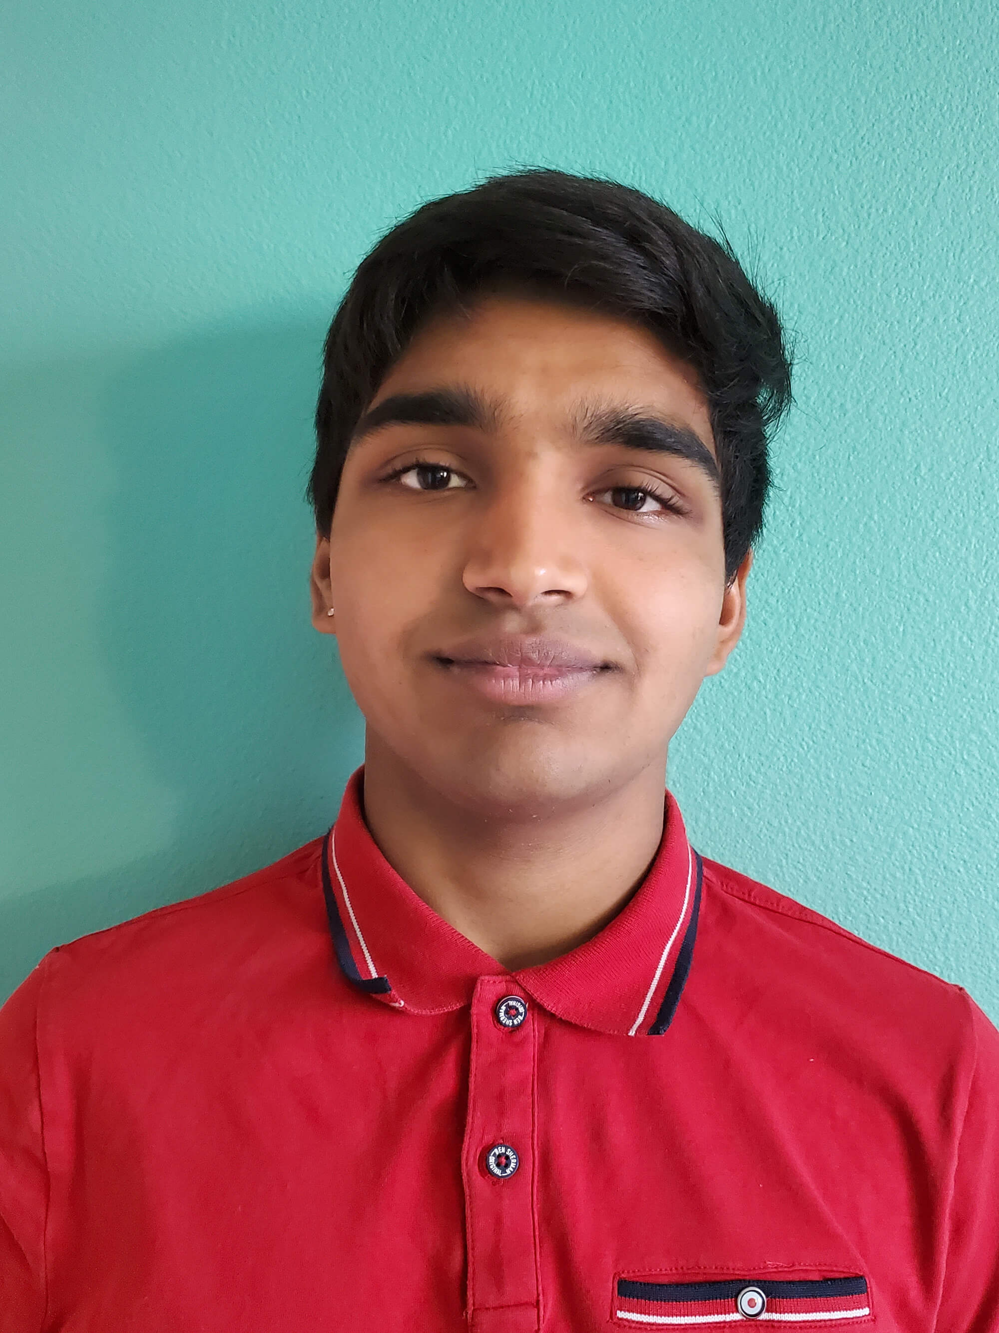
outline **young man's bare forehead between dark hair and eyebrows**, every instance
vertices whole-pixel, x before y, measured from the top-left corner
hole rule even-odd
[[[689,427],[714,452],[697,372],[626,320],[530,297],[490,296],[433,317],[372,400],[461,385],[501,421],[575,421],[587,405],[649,409]]]

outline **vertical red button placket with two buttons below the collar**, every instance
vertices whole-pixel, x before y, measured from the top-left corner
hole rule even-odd
[[[507,1020],[515,1021],[505,1022],[501,1009]],[[462,1150],[469,1324],[473,1333],[535,1333],[539,1328],[534,1208],[538,1020],[533,1006],[511,992],[509,977],[480,977],[470,1021],[469,1108]]]

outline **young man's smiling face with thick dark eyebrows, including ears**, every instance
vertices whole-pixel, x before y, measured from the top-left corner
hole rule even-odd
[[[627,323],[489,297],[424,327],[358,424],[313,623],[369,762],[530,817],[662,784],[747,571],[726,585],[694,372]]]

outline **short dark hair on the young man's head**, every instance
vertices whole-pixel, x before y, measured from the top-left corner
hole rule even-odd
[[[326,337],[309,500],[328,532],[350,437],[430,315],[521,289],[631,320],[691,365],[711,412],[733,577],[770,485],[767,433],[791,401],[773,304],[727,240],[609,180],[558,171],[494,176],[424,204],[361,263]]]

